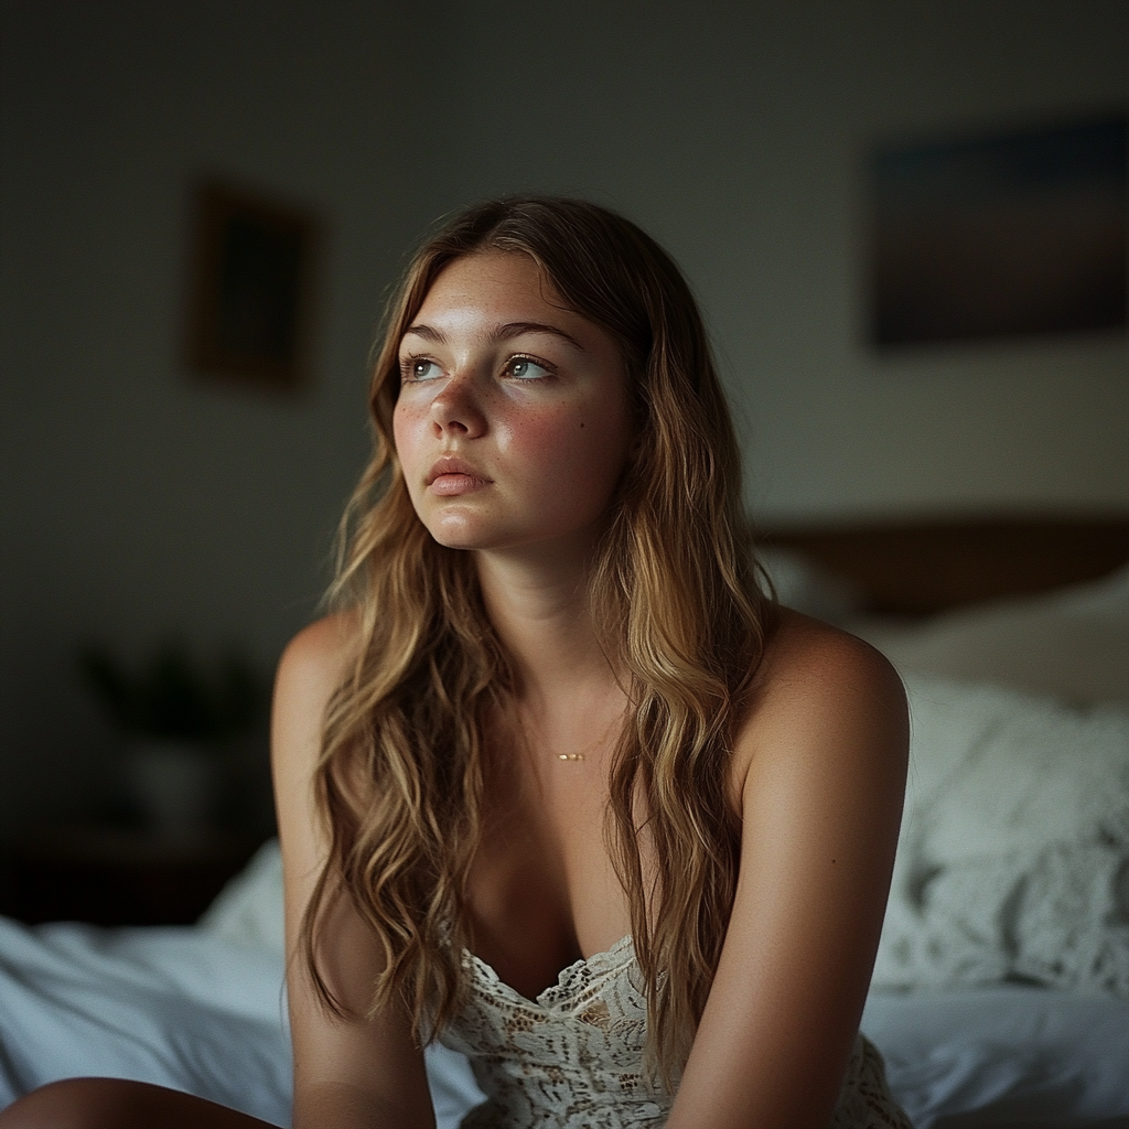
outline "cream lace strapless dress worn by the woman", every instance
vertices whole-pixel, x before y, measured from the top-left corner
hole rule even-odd
[[[577,961],[526,999],[479,957],[440,1042],[471,1061],[487,1101],[463,1129],[659,1129],[671,1100],[642,1076],[647,1005],[630,937]],[[911,1129],[886,1089],[882,1058],[856,1040],[832,1129]]]

